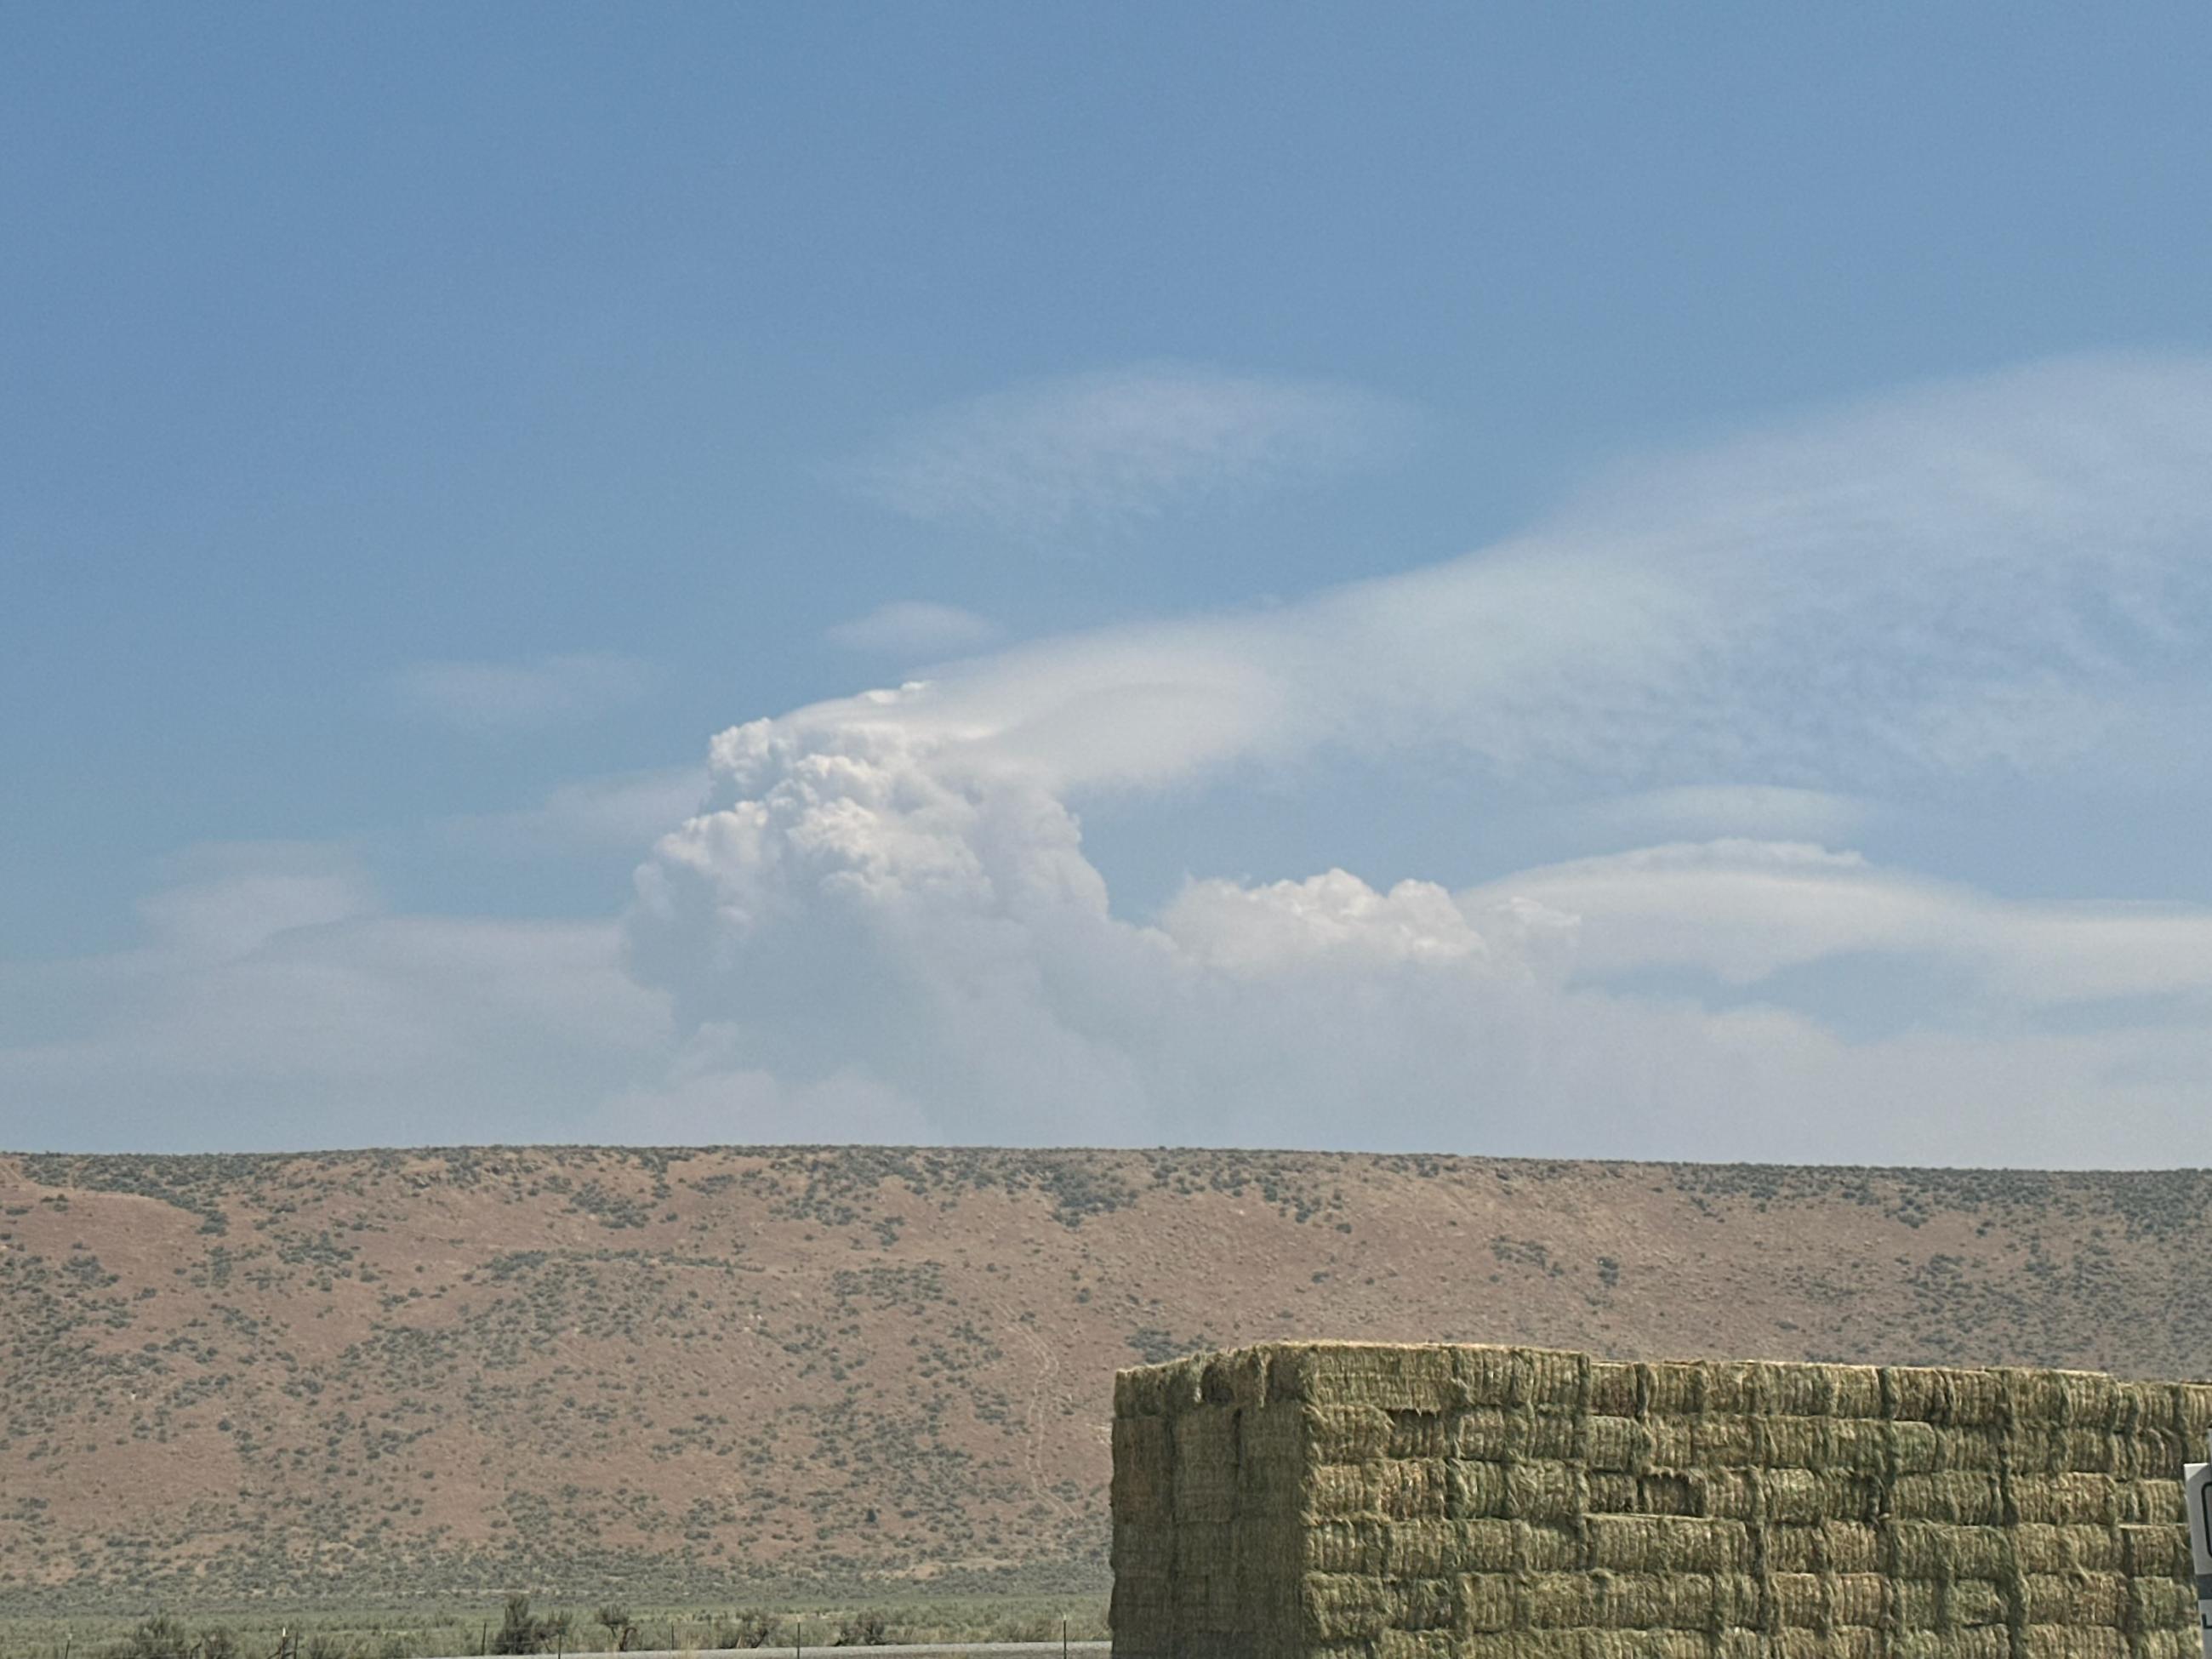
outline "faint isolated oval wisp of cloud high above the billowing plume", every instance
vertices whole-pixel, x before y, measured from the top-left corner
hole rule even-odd
[[[909,518],[1062,535],[1365,467],[1409,427],[1400,405],[1354,387],[1155,363],[936,409],[845,478]]]

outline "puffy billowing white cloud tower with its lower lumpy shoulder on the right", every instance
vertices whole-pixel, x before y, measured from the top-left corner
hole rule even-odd
[[[1281,1137],[1285,1106],[1363,1073],[1418,1113],[1440,1068],[1522,1046],[1513,1011],[1564,967],[1571,918],[1340,872],[1117,920],[1029,770],[896,721],[761,721],[712,768],[717,810],[639,872],[641,973],[750,1066],[858,1066],[962,1137]]]

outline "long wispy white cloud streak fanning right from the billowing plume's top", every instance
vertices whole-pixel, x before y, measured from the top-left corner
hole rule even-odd
[[[1062,787],[1444,745],[1608,794],[2203,765],[2212,365],[2059,361],[1624,467],[1526,533],[1265,613],[803,708]],[[1772,781],[1772,783],[1770,783]]]

